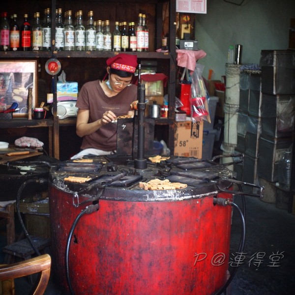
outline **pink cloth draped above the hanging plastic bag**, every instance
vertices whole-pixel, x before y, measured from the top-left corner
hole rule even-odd
[[[186,67],[191,71],[195,70],[196,61],[206,57],[206,52],[203,50],[186,50],[177,49],[177,65]]]

